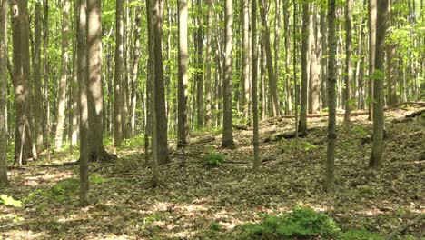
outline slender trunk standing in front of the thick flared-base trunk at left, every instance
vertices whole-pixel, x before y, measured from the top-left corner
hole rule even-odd
[[[78,83],[80,95],[80,204],[89,203],[89,122],[88,122],[88,73],[87,73],[87,0],[78,0],[79,19],[77,24]]]

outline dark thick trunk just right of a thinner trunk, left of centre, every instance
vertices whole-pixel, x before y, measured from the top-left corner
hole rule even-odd
[[[163,0],[154,0],[153,5],[153,36],[154,36],[154,69],[155,78],[153,84],[153,109],[156,119],[156,150],[158,164],[164,165],[170,162],[168,156],[167,140],[167,117],[165,112],[165,89],[163,78]]]

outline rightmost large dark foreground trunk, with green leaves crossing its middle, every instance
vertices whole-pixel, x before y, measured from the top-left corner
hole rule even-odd
[[[384,118],[384,56],[385,56],[385,35],[387,33],[388,5],[389,0],[378,0],[377,9],[377,30],[376,30],[376,52],[375,52],[375,70],[373,72],[373,143],[371,152],[371,161],[369,165],[373,168],[379,168],[382,165],[383,151],[383,127]]]

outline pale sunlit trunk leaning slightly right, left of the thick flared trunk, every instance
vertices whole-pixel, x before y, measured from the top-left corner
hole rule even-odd
[[[69,32],[69,0],[64,0],[62,8],[62,61],[61,61],[61,81],[59,83],[59,95],[57,99],[56,112],[56,132],[54,137],[54,148],[60,151],[64,137],[64,118],[66,106],[66,80],[68,77],[68,32]]]

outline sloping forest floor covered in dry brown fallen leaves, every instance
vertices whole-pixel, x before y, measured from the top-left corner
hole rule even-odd
[[[83,208],[77,192],[52,195],[59,181],[78,178],[78,166],[49,167],[44,161],[13,168],[11,185],[2,194],[23,205],[0,205],[0,239],[235,239],[240,225],[298,205],[330,215],[342,230],[363,228],[387,235],[425,213],[425,119],[404,118],[416,110],[386,112],[388,138],[380,170],[367,167],[367,115],[353,116],[351,125],[341,125],[338,117],[337,190],[332,195],[322,187],[327,117],[309,118],[311,131],[300,138],[298,153],[294,139],[264,143],[273,134],[291,132],[293,119],[262,121],[262,166],[255,174],[251,128],[234,131],[235,150],[220,148],[221,135],[193,134],[184,153],[171,150],[172,164],[160,167],[161,185],[154,189],[143,146],[122,147],[116,162],[90,165],[92,205]],[[225,155],[228,163],[203,165],[202,155],[208,151]],[[76,149],[74,154],[54,154],[48,164],[69,162],[77,154]],[[403,234],[420,239],[424,229],[422,221]]]

